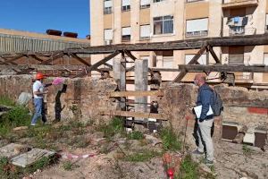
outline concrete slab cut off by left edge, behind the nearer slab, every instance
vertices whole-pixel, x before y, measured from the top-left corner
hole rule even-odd
[[[28,147],[25,145],[10,143],[0,148],[0,157],[13,158],[19,155],[21,152],[25,151],[25,149],[28,149]]]

